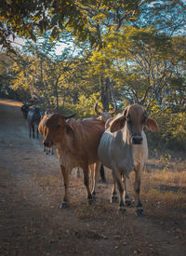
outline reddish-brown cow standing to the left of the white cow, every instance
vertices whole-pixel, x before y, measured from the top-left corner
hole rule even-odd
[[[56,145],[60,160],[65,188],[60,208],[66,208],[69,205],[69,172],[75,167],[83,169],[87,200],[89,203],[92,202],[88,166],[99,162],[98,146],[104,132],[104,122],[97,118],[75,120],[71,117],[73,115],[50,115],[46,120],[44,133],[44,145],[46,147]]]

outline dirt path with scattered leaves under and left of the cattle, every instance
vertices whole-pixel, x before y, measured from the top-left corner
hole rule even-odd
[[[44,154],[42,138],[29,139],[20,105],[0,100],[0,255],[186,255],[186,200],[179,208],[158,205],[144,193],[145,178],[144,218],[134,208],[120,215],[110,204],[109,172],[93,206],[72,174],[72,205],[60,209],[58,159]]]

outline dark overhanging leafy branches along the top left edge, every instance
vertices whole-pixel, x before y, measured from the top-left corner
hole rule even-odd
[[[140,0],[2,0],[0,6],[0,44],[12,50],[15,36],[31,38],[50,31],[50,39],[58,39],[64,31],[91,46],[102,45],[102,28],[119,25],[139,15]],[[12,38],[10,37],[12,36]]]

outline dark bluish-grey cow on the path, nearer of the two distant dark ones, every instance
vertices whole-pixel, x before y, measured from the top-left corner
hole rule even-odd
[[[37,139],[38,139],[38,126],[41,120],[41,113],[39,107],[33,107],[28,112],[27,120],[29,123],[29,129],[30,129],[30,138],[33,131],[33,138],[35,137],[35,130],[37,132]]]

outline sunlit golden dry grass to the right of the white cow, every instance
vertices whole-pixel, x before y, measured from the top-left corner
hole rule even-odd
[[[186,159],[174,153],[148,160],[142,177],[141,195],[158,208],[186,207]]]

